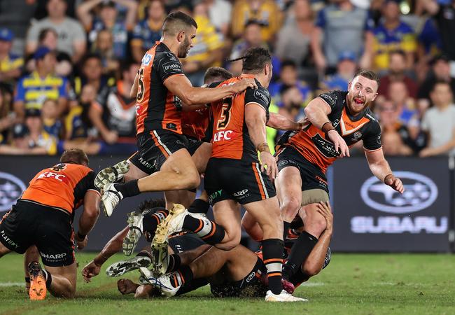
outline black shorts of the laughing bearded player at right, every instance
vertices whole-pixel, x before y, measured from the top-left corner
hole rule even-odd
[[[322,170],[305,159],[295,148],[285,146],[278,153],[278,172],[286,167],[297,167],[302,178],[302,191],[322,189],[328,193],[327,178]]]

